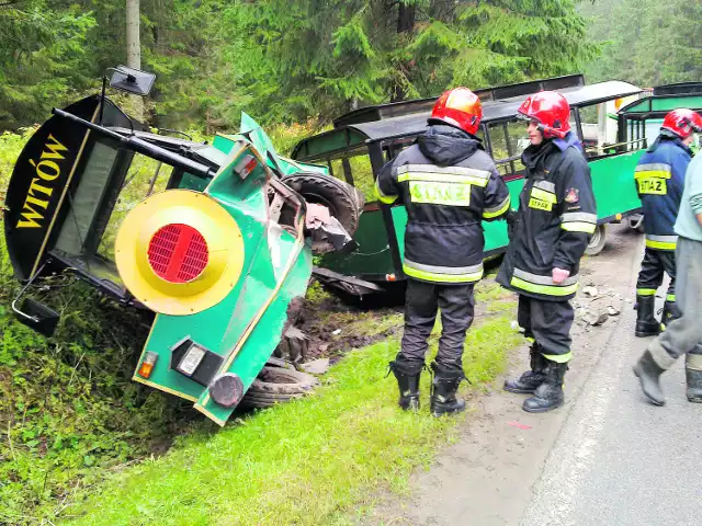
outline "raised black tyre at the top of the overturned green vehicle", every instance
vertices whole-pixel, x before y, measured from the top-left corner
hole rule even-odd
[[[283,179],[307,203],[324,205],[350,236],[359,228],[363,208],[363,195],[350,184],[331,175],[315,172],[297,172]]]

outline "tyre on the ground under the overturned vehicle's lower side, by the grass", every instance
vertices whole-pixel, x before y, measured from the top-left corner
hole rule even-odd
[[[307,373],[267,365],[249,387],[240,405],[257,409],[270,408],[280,402],[302,398],[317,385],[319,380]]]

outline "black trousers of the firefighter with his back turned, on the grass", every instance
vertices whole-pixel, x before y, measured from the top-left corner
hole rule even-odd
[[[463,370],[465,334],[473,323],[473,283],[444,285],[407,279],[405,333],[397,362],[409,367],[424,364],[427,340],[441,309],[441,339],[437,363],[446,371]]]

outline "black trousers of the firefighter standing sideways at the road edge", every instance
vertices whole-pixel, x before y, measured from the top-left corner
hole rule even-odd
[[[539,352],[552,362],[570,359],[570,327],[575,318],[570,301],[550,301],[519,295],[517,322],[524,335],[539,344]]]

